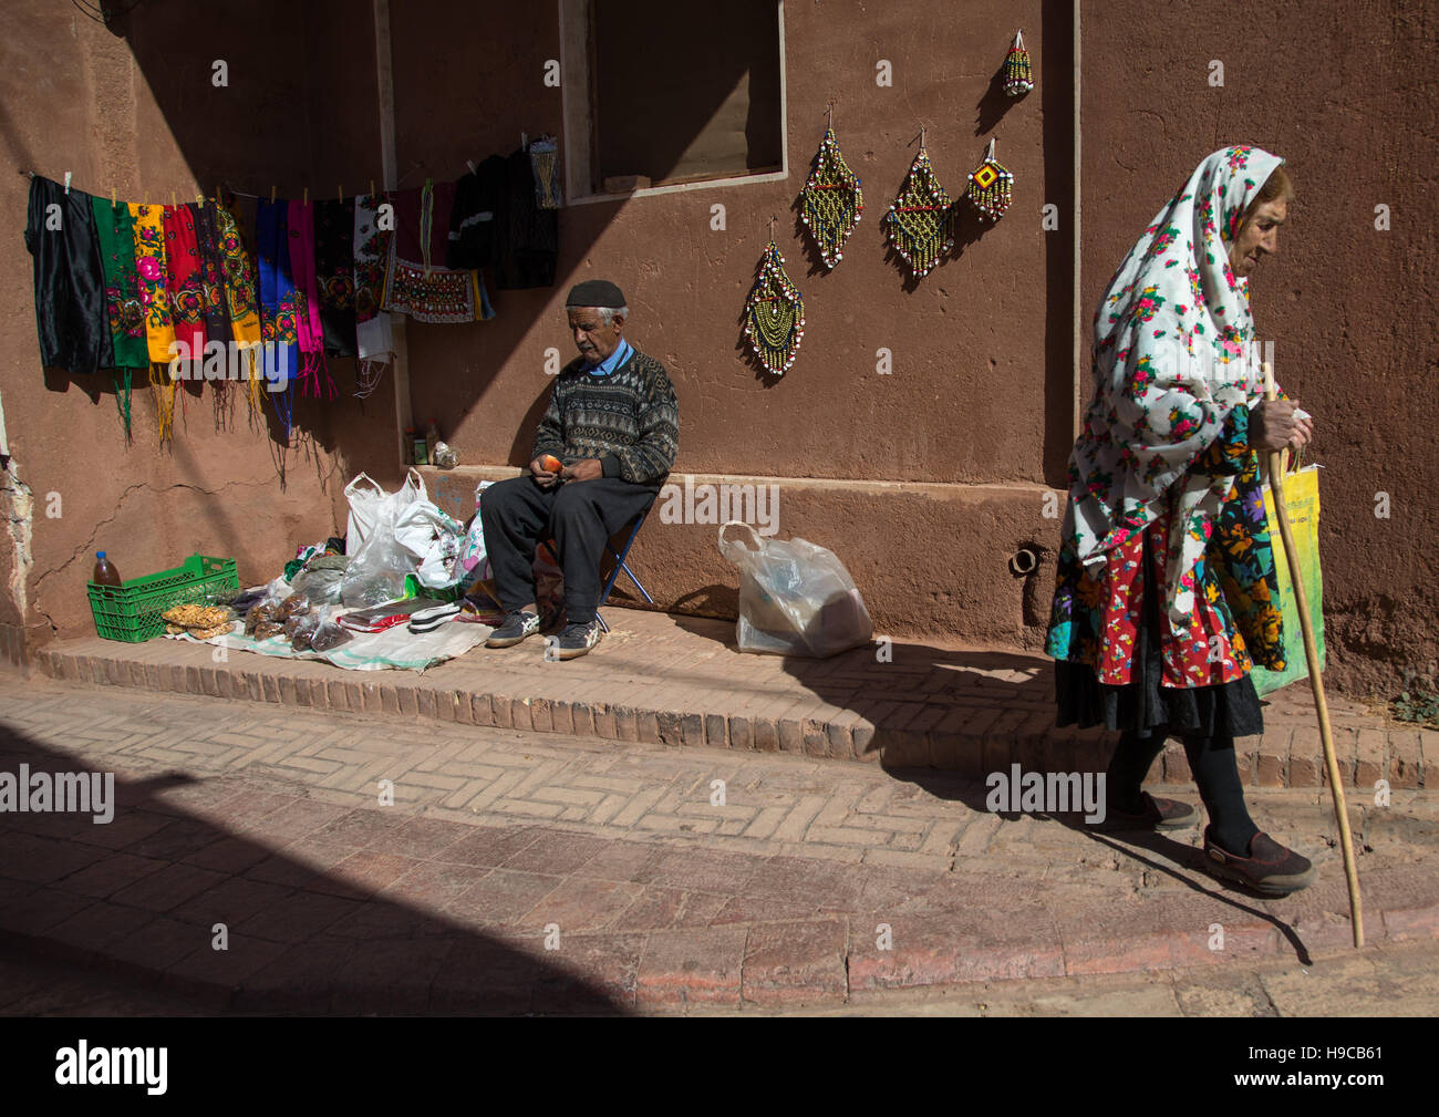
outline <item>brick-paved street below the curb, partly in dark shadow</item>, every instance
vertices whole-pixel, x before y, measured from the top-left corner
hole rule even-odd
[[[1263,901],[1199,872],[1193,833],[993,815],[953,773],[13,675],[0,702],[0,772],[114,772],[122,803],[0,815],[3,937],[230,1010],[856,1005],[1348,940],[1317,790],[1252,796],[1321,871]],[[1368,939],[1433,937],[1439,805],[1350,802]]]

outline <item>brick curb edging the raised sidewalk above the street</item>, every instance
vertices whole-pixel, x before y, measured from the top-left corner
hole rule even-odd
[[[645,618],[639,626],[668,620],[663,615],[630,616]],[[698,636],[691,641],[709,643]],[[659,652],[656,674],[666,655],[668,649]],[[865,698],[855,710],[810,691],[773,697],[755,691],[764,669],[773,674],[773,661],[764,659],[743,656],[738,668],[720,665],[704,685],[676,687],[663,678],[650,682],[633,661],[616,665],[609,678],[593,669],[573,678],[560,674],[557,665],[522,661],[489,672],[473,669],[468,661],[452,661],[425,675],[350,672],[317,661],[243,652],[217,664],[210,646],[164,639],[140,645],[75,641],[36,654],[45,674],[71,682],[675,747],[787,751],[879,761],[889,769],[937,767],[968,777],[1007,770],[1013,763],[1025,770],[1084,770],[1101,766],[1108,754],[1105,734],[1055,728],[1046,700],[1029,694],[1016,698],[1016,692],[999,689],[1003,681],[991,682],[987,675],[963,697],[954,697],[925,689],[938,672],[908,672],[907,689]],[[822,679],[832,664],[837,659],[813,666],[806,682]],[[994,672],[996,678],[1006,674],[1014,672]],[[941,697],[945,701],[938,701]],[[1023,704],[1007,705],[1010,701]],[[1312,713],[1297,697],[1285,695],[1266,710],[1266,723],[1262,737],[1238,743],[1245,783],[1328,786]],[[1439,756],[1439,731],[1386,730],[1379,718],[1353,711],[1335,714],[1334,733],[1344,784],[1361,792],[1373,792],[1379,779],[1387,779],[1394,789],[1425,789],[1427,763]],[[1190,782],[1179,743],[1167,746],[1156,779]]]

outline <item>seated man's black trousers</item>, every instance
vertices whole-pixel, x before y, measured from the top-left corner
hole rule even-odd
[[[479,515],[499,605],[518,609],[535,599],[535,547],[553,538],[564,571],[566,619],[571,625],[594,620],[603,589],[604,544],[649,508],[658,494],[659,485],[636,485],[616,476],[544,488],[525,474],[486,488],[479,498]]]

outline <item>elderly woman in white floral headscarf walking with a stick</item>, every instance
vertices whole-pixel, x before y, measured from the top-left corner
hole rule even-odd
[[[1094,400],[1069,459],[1053,613],[1059,725],[1120,731],[1108,813],[1181,829],[1194,809],[1140,783],[1184,743],[1210,871],[1268,895],[1314,879],[1245,808],[1235,737],[1262,731],[1253,662],[1284,666],[1258,453],[1311,423],[1263,402],[1248,278],[1278,250],[1292,186],[1253,147],[1209,155],[1160,210],[1095,312]]]

